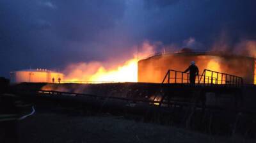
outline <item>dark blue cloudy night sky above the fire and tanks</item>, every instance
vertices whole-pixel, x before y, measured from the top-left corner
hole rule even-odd
[[[256,40],[255,0],[0,0],[0,20],[0,77],[120,59],[143,41],[209,50]]]

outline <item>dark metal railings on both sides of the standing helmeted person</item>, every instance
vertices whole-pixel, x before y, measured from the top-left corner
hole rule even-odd
[[[189,73],[180,72],[177,70],[168,70],[163,79],[163,84],[189,84]],[[215,72],[205,69],[202,75],[197,75],[196,84],[225,84],[232,86],[241,86],[243,78],[227,73]]]

